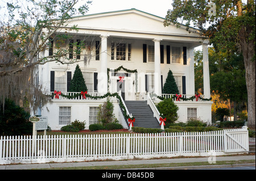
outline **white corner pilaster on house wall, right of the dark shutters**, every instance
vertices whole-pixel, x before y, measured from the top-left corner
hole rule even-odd
[[[189,91],[187,94],[195,94],[195,68],[194,68],[194,49],[189,48],[188,50],[188,66],[189,66]]]

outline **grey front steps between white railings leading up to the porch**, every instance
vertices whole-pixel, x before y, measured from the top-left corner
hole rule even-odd
[[[134,117],[134,127],[161,128],[147,101],[125,100],[126,107]]]

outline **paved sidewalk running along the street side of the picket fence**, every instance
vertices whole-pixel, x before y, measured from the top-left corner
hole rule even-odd
[[[65,167],[112,166],[112,165],[141,165],[141,164],[158,164],[158,163],[208,162],[208,158],[209,157],[0,165],[0,170],[29,170],[29,169],[50,169],[55,167],[65,168]],[[216,157],[216,161],[239,161],[239,160],[249,160],[249,159],[255,160],[255,155]]]

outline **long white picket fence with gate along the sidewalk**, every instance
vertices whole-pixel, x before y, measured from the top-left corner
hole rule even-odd
[[[0,165],[184,156],[249,151],[247,129],[156,134],[2,136]]]

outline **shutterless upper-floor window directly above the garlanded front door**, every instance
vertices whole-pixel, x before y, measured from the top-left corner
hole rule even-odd
[[[112,43],[111,60],[131,61],[131,44]]]

